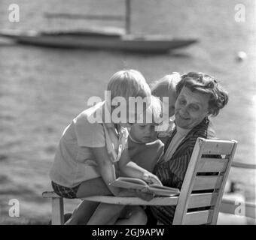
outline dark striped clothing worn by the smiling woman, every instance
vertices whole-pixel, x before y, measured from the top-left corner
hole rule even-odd
[[[194,150],[194,145],[196,144],[198,137],[207,138],[209,130],[209,118],[204,118],[200,124],[190,130],[187,136],[178,145],[175,153],[167,161],[162,161],[157,163],[154,168],[154,174],[160,178],[163,185],[169,187],[176,187],[181,189],[184,175],[187,171],[187,166]],[[176,129],[173,131],[172,136],[170,136],[164,151],[168,148],[169,143],[172,141],[173,136],[176,133]],[[165,205],[153,205],[150,207],[151,212],[154,217],[165,225],[172,224],[172,220],[175,214],[175,206],[165,206]]]

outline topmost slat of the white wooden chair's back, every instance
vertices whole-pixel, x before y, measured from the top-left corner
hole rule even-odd
[[[203,146],[203,154],[231,154],[233,145],[230,141],[208,141]]]

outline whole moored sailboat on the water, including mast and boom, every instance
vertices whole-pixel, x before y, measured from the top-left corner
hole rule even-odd
[[[125,28],[87,28],[74,31],[14,31],[0,30],[0,37],[17,43],[57,48],[106,49],[129,52],[169,52],[197,43],[197,39],[181,39],[163,35],[136,35],[130,31],[131,0],[125,1],[125,16],[83,15],[78,13],[45,13],[45,17],[69,20],[124,21]]]

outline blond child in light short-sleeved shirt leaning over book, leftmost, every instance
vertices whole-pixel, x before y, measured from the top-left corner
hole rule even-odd
[[[111,102],[115,97],[125,99],[128,115],[136,115],[129,112],[130,97],[148,98],[151,95],[145,78],[134,70],[118,71],[111,77],[107,90],[111,92]],[[116,108],[109,106],[107,101],[99,102],[74,118],[62,133],[50,169],[53,190],[59,196],[118,196],[120,190],[109,186],[116,178],[118,167],[126,175],[160,184],[151,172],[130,162],[126,144],[128,132],[123,127],[127,122],[114,122],[112,118],[105,122],[105,115],[111,115]],[[97,121],[92,122],[94,115],[97,115]],[[119,166],[120,159],[123,163]],[[97,203],[87,203],[87,211],[93,212]]]

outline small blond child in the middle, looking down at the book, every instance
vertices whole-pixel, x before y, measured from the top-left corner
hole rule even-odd
[[[132,125],[128,137],[131,160],[149,172],[153,171],[157,161],[163,155],[164,145],[160,139],[157,139],[157,132],[155,131],[161,115],[161,109],[160,100],[152,96],[150,107],[141,115],[142,118],[139,118],[138,121],[140,123]],[[142,196],[142,194],[138,193],[139,196]],[[148,200],[152,197],[152,194],[148,194]],[[144,195],[142,198],[147,199],[147,196]],[[87,224],[144,225],[146,221],[146,214],[140,206],[102,203]]]

